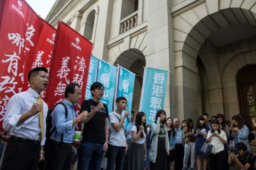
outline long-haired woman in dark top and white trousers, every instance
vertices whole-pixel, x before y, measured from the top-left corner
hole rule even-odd
[[[194,126],[192,119],[186,120],[186,127],[184,129],[185,135],[185,152],[184,152],[184,160],[183,160],[183,169],[186,170],[186,164],[189,157],[189,153],[191,152],[191,167],[190,170],[194,168],[194,147],[195,147],[195,138],[194,134]]]

